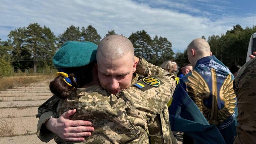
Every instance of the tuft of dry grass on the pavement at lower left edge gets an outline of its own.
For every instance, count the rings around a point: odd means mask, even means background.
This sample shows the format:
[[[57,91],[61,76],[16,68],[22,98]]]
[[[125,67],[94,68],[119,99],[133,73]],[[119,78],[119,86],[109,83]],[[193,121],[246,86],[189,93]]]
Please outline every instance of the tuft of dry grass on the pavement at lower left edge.
[[[0,137],[8,137],[14,135],[15,123],[13,120],[0,119]]]

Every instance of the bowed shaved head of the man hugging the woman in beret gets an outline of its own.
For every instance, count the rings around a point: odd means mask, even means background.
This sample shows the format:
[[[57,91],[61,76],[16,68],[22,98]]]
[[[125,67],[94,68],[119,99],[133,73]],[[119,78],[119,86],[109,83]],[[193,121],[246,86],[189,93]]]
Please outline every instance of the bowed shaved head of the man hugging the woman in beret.
[[[131,41],[122,35],[109,35],[97,49],[97,69],[101,86],[116,94],[131,86],[137,61]]]

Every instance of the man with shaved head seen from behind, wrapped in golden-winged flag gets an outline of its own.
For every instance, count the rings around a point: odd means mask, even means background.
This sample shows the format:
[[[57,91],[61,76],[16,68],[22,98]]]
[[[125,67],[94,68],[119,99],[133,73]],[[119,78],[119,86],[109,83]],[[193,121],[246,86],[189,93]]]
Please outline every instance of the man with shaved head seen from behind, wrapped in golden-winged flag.
[[[237,99],[232,87],[234,76],[212,55],[209,43],[202,38],[194,39],[189,44],[188,60],[193,71],[180,79],[182,89],[209,124],[217,126],[226,144],[233,143],[237,115]],[[186,143],[186,138],[183,140]]]

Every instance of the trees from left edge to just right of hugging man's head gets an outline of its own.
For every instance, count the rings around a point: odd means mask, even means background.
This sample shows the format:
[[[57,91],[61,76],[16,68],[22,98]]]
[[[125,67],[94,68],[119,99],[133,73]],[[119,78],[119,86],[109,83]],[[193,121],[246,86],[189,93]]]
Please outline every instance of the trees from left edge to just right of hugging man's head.
[[[105,36],[110,34],[115,34],[115,31],[110,30]],[[7,36],[7,41],[0,39],[1,61],[15,71],[33,69],[34,73],[45,68],[54,68],[52,57],[65,42],[90,41],[99,44],[102,39],[92,25],[86,28],[71,25],[64,33],[55,36],[49,27],[37,23],[12,30]],[[158,65],[164,60],[173,59],[172,43],[165,37],[156,35],[152,39],[142,30],[132,33],[129,39],[134,45],[135,54],[143,56],[153,64]]]

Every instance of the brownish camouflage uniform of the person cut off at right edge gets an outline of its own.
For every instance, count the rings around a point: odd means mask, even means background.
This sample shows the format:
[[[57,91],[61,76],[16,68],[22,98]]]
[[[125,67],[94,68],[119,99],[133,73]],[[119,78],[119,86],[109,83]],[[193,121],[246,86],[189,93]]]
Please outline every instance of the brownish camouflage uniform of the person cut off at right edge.
[[[256,58],[246,62],[233,82],[238,126],[234,144],[256,143]]]

